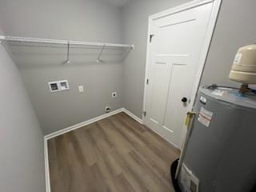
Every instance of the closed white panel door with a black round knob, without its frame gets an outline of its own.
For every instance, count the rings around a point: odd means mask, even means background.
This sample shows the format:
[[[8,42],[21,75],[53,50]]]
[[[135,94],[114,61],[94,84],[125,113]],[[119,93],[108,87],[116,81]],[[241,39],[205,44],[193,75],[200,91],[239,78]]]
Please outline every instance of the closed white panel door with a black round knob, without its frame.
[[[212,6],[207,3],[151,23],[145,123],[175,146],[181,144]]]

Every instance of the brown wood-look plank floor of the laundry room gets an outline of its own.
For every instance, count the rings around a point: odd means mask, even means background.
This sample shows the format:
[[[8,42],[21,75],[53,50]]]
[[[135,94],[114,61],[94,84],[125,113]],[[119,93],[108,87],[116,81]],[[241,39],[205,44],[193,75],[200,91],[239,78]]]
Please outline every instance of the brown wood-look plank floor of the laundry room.
[[[178,150],[124,113],[48,141],[51,192],[170,192]]]

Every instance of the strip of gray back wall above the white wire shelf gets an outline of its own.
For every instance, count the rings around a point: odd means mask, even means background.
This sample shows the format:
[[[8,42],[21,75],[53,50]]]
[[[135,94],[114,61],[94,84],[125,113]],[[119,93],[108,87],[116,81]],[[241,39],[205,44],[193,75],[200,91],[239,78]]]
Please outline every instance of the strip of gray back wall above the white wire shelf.
[[[2,0],[0,6],[5,34],[35,38],[120,42],[120,14],[105,0]]]

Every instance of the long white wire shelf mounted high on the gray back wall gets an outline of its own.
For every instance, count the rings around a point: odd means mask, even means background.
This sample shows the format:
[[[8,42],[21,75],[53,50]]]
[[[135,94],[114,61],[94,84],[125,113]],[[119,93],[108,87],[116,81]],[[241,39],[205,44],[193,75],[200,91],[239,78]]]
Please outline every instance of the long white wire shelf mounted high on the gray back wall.
[[[6,36],[0,35],[0,42],[38,42],[45,44],[62,44],[74,46],[114,46],[114,47],[122,47],[122,48],[130,48],[134,49],[134,45],[128,44],[116,44],[116,43],[106,43],[106,42],[81,42],[81,41],[70,41],[70,40],[59,40],[59,39],[50,39],[50,38],[26,38],[26,37],[17,37],[17,36]]]

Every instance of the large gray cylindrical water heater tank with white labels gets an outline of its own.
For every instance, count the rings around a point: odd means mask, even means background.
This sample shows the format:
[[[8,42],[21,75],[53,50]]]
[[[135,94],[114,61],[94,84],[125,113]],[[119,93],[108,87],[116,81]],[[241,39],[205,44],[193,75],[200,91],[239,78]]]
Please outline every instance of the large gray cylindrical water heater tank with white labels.
[[[247,192],[256,189],[256,94],[204,86],[183,166],[198,180],[183,191]]]

